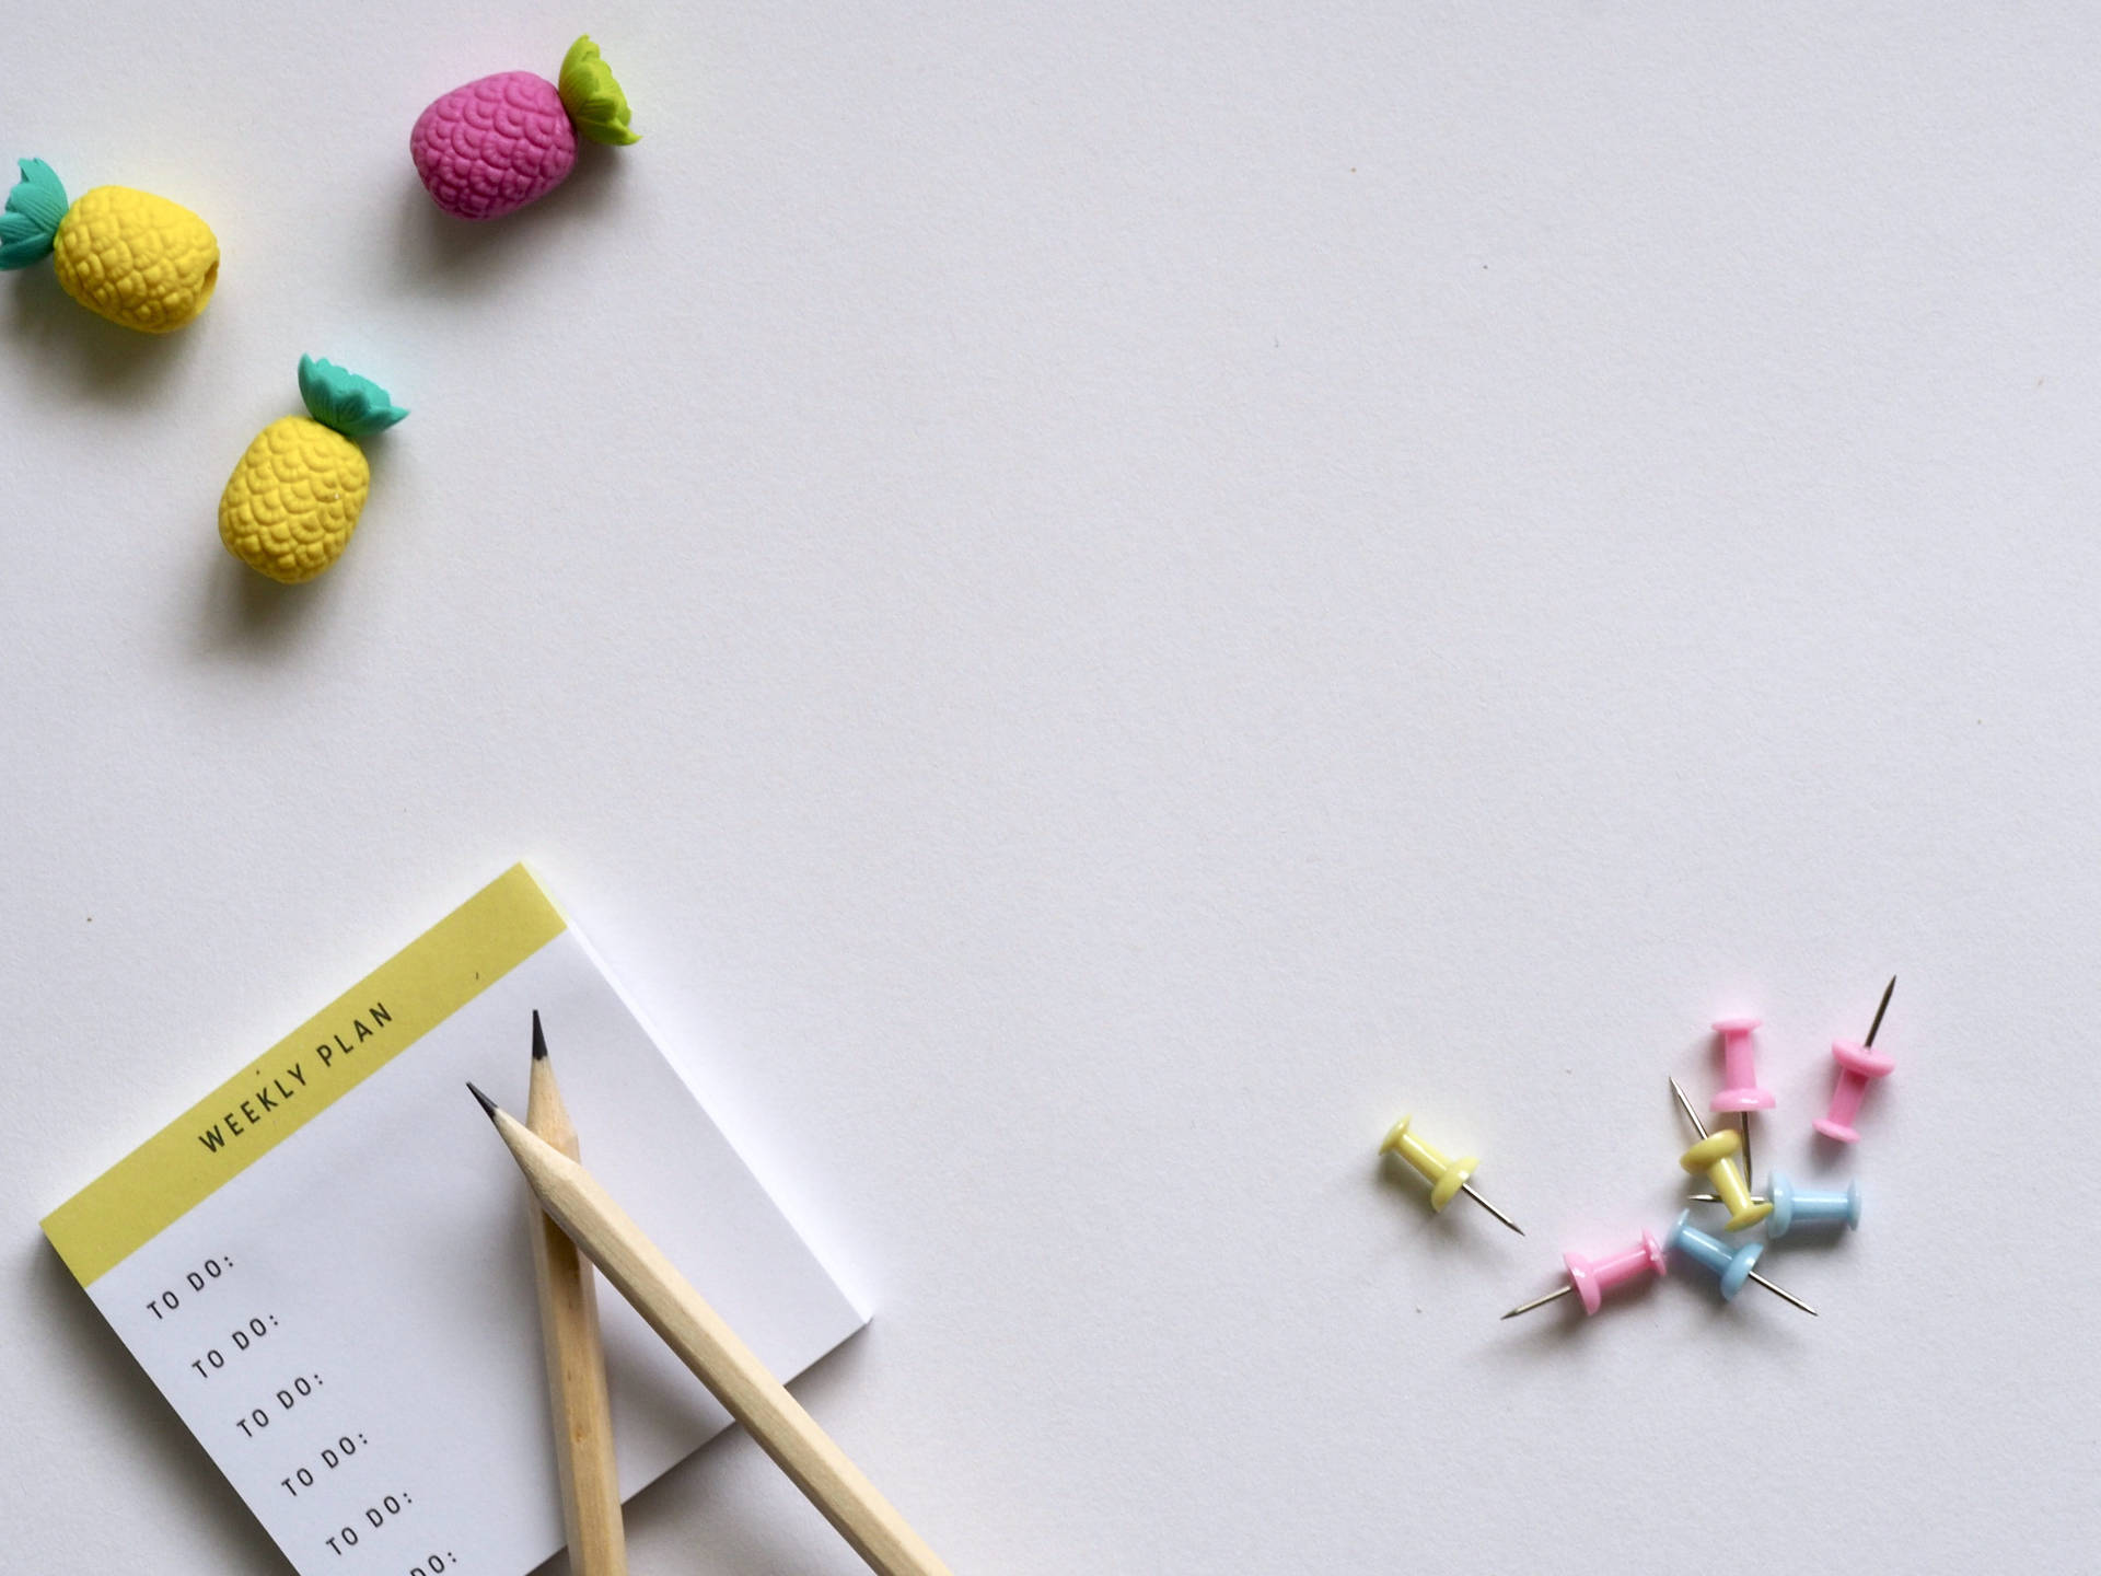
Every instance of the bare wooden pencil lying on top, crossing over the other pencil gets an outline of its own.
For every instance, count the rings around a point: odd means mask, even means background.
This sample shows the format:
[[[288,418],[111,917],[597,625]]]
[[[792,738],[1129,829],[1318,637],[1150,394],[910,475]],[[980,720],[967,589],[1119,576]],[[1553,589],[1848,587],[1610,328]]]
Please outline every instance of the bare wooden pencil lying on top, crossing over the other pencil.
[[[878,1576],[950,1576],[933,1549],[643,1236],[611,1194],[582,1164],[498,1110],[479,1088],[469,1088],[511,1147],[511,1158],[525,1173],[540,1206],[773,1456],[868,1568]]]

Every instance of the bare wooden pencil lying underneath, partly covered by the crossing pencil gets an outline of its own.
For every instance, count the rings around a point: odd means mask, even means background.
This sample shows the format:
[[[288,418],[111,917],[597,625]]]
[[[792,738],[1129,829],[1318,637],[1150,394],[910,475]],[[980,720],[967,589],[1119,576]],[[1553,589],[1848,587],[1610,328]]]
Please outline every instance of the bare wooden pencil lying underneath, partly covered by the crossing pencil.
[[[532,1015],[532,1091],[525,1126],[548,1147],[578,1160],[576,1124],[546,1059],[540,1013]],[[532,1208],[532,1267],[540,1286],[540,1339],[546,1393],[555,1414],[561,1467],[561,1523],[569,1534],[571,1576],[626,1576],[628,1540],[620,1519],[620,1471],[613,1465],[613,1412],[605,1397],[605,1347],[599,1343],[599,1292],[590,1265],[569,1236]]]

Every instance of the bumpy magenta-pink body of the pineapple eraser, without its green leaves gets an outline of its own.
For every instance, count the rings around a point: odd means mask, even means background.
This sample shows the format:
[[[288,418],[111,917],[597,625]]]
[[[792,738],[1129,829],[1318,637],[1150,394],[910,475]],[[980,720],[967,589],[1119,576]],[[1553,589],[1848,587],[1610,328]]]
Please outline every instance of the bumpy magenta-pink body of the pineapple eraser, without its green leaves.
[[[576,164],[576,128],[553,82],[498,71],[424,109],[408,147],[439,208],[498,219],[561,185]]]

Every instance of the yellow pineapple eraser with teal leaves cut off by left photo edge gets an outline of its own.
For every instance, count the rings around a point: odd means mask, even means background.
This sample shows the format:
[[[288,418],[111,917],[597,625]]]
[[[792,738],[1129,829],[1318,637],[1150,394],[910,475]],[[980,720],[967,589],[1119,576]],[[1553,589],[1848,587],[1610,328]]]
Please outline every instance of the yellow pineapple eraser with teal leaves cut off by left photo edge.
[[[219,240],[189,208],[130,187],[95,187],[67,204],[44,160],[19,164],[0,212],[0,269],[50,256],[65,294],[143,334],[204,311],[219,284]]]

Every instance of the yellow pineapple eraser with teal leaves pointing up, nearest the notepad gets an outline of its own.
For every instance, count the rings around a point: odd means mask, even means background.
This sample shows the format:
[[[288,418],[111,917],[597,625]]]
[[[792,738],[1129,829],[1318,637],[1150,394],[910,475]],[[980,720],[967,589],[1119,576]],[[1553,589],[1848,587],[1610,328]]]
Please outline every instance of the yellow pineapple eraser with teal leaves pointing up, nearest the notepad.
[[[372,469],[359,437],[408,416],[387,391],[332,361],[298,357],[307,416],[273,420],[219,494],[219,540],[256,574],[288,586],[342,557],[357,530]]]

